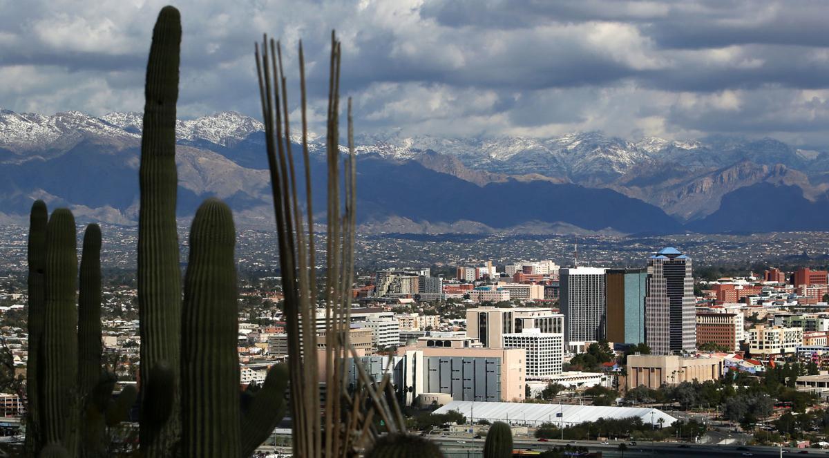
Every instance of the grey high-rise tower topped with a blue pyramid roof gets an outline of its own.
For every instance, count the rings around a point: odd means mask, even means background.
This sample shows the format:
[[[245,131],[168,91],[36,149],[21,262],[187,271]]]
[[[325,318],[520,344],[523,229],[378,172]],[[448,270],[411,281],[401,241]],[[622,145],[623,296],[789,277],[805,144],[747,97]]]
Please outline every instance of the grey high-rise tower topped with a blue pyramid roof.
[[[647,259],[645,334],[653,354],[692,352],[696,313],[691,258],[662,248]]]

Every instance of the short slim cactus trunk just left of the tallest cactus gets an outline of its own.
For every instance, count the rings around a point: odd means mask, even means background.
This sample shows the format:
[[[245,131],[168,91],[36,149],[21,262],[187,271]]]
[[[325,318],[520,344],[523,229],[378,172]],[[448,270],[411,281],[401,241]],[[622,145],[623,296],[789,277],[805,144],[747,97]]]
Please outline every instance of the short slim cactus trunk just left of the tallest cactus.
[[[97,224],[90,224],[84,232],[78,294],[78,387],[81,396],[88,396],[101,377],[100,252],[101,229]]]

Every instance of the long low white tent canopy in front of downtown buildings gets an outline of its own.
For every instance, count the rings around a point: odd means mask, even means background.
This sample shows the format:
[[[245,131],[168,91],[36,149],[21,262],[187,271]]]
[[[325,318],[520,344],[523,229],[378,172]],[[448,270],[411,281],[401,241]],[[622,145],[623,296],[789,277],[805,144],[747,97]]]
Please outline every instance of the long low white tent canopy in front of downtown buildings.
[[[542,423],[573,426],[599,418],[642,418],[645,424],[671,426],[676,418],[651,407],[573,406],[569,404],[531,404],[523,402],[453,401],[434,413],[458,411],[469,421],[505,421],[511,425],[541,426]]]

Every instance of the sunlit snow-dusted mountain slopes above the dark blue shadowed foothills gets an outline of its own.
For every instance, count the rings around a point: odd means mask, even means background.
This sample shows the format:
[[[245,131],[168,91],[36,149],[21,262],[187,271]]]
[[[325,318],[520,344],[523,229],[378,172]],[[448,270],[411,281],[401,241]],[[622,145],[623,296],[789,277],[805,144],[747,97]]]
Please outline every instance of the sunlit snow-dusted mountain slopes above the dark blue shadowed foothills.
[[[134,112],[95,117],[76,111],[36,115],[0,110],[0,172],[8,168],[12,173],[12,168],[32,161],[25,166],[26,173],[35,173],[39,161],[61,163],[64,169],[80,161],[92,168],[103,167],[100,163],[124,168],[122,178],[128,179],[138,167],[141,128],[142,115]],[[196,197],[212,190],[249,206],[266,199],[267,177],[261,173],[267,167],[263,129],[259,120],[235,112],[179,120],[177,139],[182,153],[177,160],[182,189],[192,194],[188,198],[197,202]],[[293,132],[292,143],[299,142]],[[324,151],[324,138],[312,134],[309,149],[313,153]],[[347,151],[343,145],[340,149]],[[361,158],[404,168],[416,164],[479,188],[511,181],[604,188],[659,207],[681,222],[704,218],[716,212],[730,193],[763,183],[793,188],[805,202],[823,202],[829,189],[829,153],[793,149],[774,139],[631,140],[600,132],[548,138],[453,139],[411,137],[392,130],[358,134],[356,153]],[[60,181],[59,172],[56,170],[50,179]],[[19,178],[21,172],[15,173],[12,178]],[[36,181],[36,174],[33,176]],[[35,195],[49,195],[75,202],[61,195],[64,191],[26,189],[27,183],[9,185],[7,192],[11,194],[6,196],[22,202]],[[759,189],[768,192],[768,188]],[[133,197],[124,194],[121,198],[125,201]],[[95,202],[83,205],[99,207]],[[122,216],[129,217],[126,213]]]

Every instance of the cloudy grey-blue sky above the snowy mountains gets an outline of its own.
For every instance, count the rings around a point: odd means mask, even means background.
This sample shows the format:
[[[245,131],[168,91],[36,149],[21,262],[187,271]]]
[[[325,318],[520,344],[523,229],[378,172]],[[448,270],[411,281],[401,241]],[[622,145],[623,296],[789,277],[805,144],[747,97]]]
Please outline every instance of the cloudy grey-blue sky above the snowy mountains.
[[[174,3],[182,118],[259,118],[253,43],[268,32],[283,41],[294,83],[303,39],[321,119],[335,28],[362,132],[735,134],[829,149],[829,2]],[[163,4],[0,0],[0,108],[142,110]]]

